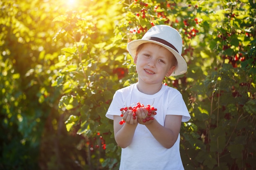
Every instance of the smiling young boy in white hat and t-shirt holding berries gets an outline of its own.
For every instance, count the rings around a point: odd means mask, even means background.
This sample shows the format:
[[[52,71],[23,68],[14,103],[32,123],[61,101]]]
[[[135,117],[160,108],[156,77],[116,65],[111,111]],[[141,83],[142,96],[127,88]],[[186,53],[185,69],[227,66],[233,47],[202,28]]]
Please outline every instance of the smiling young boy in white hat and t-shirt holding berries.
[[[115,140],[122,148],[119,170],[184,170],[180,126],[191,117],[181,93],[162,84],[165,76],[186,73],[182,38],[172,27],[157,25],[127,48],[136,64],[138,82],[116,91],[106,113],[114,120]],[[145,107],[137,108],[136,116],[130,109],[120,111],[138,102],[154,106],[157,114],[144,121]],[[125,123],[121,125],[122,119]]]

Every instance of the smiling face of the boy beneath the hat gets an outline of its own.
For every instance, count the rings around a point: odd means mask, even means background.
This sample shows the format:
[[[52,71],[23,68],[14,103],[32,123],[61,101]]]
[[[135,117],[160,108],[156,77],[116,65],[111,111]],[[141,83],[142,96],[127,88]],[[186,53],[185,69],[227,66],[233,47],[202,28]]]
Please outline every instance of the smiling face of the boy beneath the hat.
[[[175,69],[173,57],[173,53],[162,46],[143,44],[134,58],[139,79],[147,83],[162,84],[164,77],[169,77]]]

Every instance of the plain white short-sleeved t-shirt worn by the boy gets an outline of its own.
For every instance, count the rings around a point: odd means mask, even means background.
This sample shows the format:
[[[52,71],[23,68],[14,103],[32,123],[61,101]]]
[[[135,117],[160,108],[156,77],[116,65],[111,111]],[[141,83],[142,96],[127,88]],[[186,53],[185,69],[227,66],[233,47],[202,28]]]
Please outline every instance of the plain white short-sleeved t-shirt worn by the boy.
[[[155,119],[164,126],[166,115],[182,115],[182,121],[191,118],[182,95],[175,88],[162,86],[154,95],[141,93],[137,84],[116,91],[106,117],[121,115],[120,108],[135,106],[137,102],[157,108]],[[122,148],[119,170],[184,170],[180,157],[180,135],[172,148],[164,148],[146,126],[138,124],[132,143]]]

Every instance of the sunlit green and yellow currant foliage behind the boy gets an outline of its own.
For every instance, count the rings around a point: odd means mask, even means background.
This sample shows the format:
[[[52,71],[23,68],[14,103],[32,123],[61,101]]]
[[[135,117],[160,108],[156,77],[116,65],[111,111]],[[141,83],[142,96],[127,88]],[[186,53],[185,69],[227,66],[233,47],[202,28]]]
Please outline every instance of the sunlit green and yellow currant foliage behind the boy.
[[[183,38],[185,170],[256,168],[256,2],[1,0],[0,169],[117,170],[105,117],[137,81],[126,44],[167,24]]]

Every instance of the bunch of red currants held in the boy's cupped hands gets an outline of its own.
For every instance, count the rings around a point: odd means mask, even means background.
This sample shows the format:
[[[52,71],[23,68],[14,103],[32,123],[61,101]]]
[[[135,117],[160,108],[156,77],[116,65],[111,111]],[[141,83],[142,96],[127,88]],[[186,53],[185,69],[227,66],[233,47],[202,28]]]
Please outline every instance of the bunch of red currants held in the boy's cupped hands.
[[[137,119],[137,117],[136,117],[136,111],[137,111],[137,109],[138,108],[143,108],[144,107],[144,104],[141,104],[140,102],[138,102],[137,103],[137,105],[136,106],[134,106],[134,107],[124,107],[124,108],[121,108],[120,109],[120,111],[127,111],[127,110],[132,110],[132,118],[133,119]],[[147,105],[147,106],[145,106],[145,108],[147,109],[147,111],[148,111],[148,113],[147,113],[147,115],[144,117],[144,119],[142,120],[144,123],[146,122],[146,121],[149,121],[149,120],[153,120],[154,119],[154,117],[151,117],[151,115],[152,114],[154,114],[154,115],[156,115],[157,113],[156,113],[156,111],[157,111],[157,108],[154,108],[153,106],[150,106],[149,104]],[[124,115],[123,114],[121,114],[120,115],[121,117],[123,117]],[[125,121],[122,119],[121,121],[119,121],[119,124],[120,125],[122,125],[122,124],[124,124],[125,123]]]

